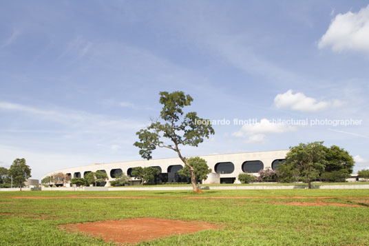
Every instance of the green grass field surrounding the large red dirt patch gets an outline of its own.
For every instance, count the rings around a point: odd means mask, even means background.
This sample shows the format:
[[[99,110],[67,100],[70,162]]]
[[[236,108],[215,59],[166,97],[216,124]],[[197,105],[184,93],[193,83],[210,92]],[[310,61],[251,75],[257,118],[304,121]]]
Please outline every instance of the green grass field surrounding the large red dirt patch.
[[[26,199],[13,196],[81,198]],[[230,198],[186,198],[188,196]],[[292,202],[315,203],[317,200],[359,207],[288,205]],[[114,245],[81,233],[65,232],[58,226],[136,217],[222,225],[218,230],[170,236],[139,245],[369,245],[368,189],[208,190],[204,194],[190,191],[1,192],[0,245]]]

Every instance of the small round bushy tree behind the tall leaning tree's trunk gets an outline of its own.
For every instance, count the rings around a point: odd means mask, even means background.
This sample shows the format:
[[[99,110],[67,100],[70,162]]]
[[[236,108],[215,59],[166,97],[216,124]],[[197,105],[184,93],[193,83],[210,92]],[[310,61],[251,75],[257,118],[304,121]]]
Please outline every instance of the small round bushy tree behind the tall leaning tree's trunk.
[[[211,168],[207,165],[207,161],[200,157],[187,158],[187,162],[193,170],[195,170],[195,181],[198,183],[200,180],[207,179],[207,175],[211,173]],[[192,173],[188,166],[184,166],[183,169],[178,170],[180,176],[191,178]]]

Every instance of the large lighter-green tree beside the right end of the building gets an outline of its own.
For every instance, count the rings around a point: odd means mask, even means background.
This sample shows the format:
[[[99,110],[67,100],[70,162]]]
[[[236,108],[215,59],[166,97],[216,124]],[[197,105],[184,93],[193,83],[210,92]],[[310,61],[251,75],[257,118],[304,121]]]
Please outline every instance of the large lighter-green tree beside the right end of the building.
[[[322,141],[300,143],[295,147],[290,147],[286,161],[280,167],[286,166],[285,169],[291,170],[291,174],[295,172],[294,174],[308,183],[308,188],[311,189],[311,182],[318,178],[326,167],[325,156],[326,151]]]

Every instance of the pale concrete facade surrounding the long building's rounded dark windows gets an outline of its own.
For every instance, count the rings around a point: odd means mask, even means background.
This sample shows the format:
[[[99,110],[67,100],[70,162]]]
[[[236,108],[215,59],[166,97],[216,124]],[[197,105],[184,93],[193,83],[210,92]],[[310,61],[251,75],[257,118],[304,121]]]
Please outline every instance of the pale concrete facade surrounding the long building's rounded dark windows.
[[[272,168],[272,163],[275,160],[284,160],[286,158],[286,154],[288,153],[288,150],[275,150],[275,151],[265,151],[265,152],[246,152],[246,153],[237,153],[237,154],[213,154],[213,155],[207,155],[207,156],[200,156],[201,158],[204,158],[207,161],[207,164],[211,168],[213,173],[218,173],[220,182],[222,181],[231,181],[231,179],[234,178],[235,183],[239,183],[238,181],[238,175],[241,173],[244,173],[242,170],[242,166],[244,166],[244,169],[251,167],[251,165],[254,165],[253,169],[257,171],[260,169],[266,169],[266,168]],[[259,165],[255,166],[255,162]],[[261,162],[261,163],[260,163]],[[219,165],[219,163],[222,163]],[[224,164],[225,163],[225,164]],[[234,166],[234,169],[232,172],[227,173],[220,170],[220,166],[223,165],[229,170],[232,170],[232,163]],[[217,165],[218,164],[218,165]],[[133,169],[134,167],[160,167],[161,172],[163,174],[168,173],[168,168],[173,165],[181,165],[183,166],[182,161],[180,161],[180,158],[162,158],[162,159],[156,159],[156,160],[141,160],[141,161],[125,161],[125,162],[119,162],[119,163],[105,163],[105,164],[92,164],[92,165],[85,165],[82,167],[70,167],[65,168],[62,170],[56,170],[54,172],[49,172],[48,174],[45,174],[45,176],[52,176],[53,174],[62,172],[63,174],[71,174],[72,178],[74,178],[76,175],[80,173],[81,178],[83,178],[85,172],[96,172],[98,170],[105,170],[107,173],[107,176],[109,177],[108,181],[113,181],[114,177],[112,177],[112,170],[122,170],[125,174],[129,173],[129,170]],[[261,166],[262,165],[262,166]],[[255,169],[256,168],[256,169]],[[253,172],[254,174],[257,173],[257,171]],[[45,178],[43,176],[42,178]],[[114,176],[114,175],[113,175]],[[207,181],[204,181],[204,183],[218,183],[215,176],[218,175],[209,175],[209,178]],[[41,178],[41,179],[42,179]],[[231,178],[231,179],[226,179]],[[169,182],[171,182],[169,180]],[[107,186],[109,185],[109,182],[107,183]]]

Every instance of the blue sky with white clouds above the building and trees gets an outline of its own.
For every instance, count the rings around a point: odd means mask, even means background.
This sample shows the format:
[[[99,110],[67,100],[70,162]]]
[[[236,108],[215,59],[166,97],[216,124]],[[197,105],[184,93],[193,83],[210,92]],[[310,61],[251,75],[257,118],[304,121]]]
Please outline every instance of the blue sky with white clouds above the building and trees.
[[[357,172],[368,68],[369,1],[1,1],[0,166],[140,160],[136,132],[180,90],[215,123],[184,156],[324,141]]]

